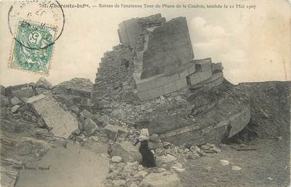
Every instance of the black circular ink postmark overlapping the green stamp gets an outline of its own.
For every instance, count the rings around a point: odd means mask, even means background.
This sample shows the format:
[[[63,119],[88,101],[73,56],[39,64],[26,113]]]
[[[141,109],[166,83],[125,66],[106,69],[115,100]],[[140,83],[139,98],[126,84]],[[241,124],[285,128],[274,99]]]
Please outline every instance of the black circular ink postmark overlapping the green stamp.
[[[8,11],[8,29],[27,49],[52,46],[61,37],[64,25],[64,11],[58,1],[14,1]]]

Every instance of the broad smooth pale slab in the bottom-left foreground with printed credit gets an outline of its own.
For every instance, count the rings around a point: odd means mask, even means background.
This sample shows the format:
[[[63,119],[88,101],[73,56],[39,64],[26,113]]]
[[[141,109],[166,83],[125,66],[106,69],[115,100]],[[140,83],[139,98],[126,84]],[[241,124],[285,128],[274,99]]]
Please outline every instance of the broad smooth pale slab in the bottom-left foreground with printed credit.
[[[102,186],[109,171],[109,160],[67,143],[66,148],[49,150],[40,161],[26,166],[35,169],[21,169],[16,187]]]

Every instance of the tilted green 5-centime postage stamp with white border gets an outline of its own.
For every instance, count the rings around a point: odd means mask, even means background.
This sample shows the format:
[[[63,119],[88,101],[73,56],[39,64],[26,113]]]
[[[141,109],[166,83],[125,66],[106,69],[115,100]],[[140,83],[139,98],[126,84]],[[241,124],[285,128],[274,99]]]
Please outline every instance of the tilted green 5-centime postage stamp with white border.
[[[48,74],[57,28],[20,20],[10,66],[22,71]]]

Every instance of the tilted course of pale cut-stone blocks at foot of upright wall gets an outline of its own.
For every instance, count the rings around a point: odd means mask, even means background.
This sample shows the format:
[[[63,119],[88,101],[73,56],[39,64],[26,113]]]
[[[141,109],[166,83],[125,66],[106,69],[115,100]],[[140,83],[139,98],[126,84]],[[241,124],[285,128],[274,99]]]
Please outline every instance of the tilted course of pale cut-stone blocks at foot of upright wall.
[[[211,86],[222,83],[222,64],[213,64],[211,59],[196,59],[184,64],[170,73],[163,73],[143,80],[136,80],[136,89],[141,101],[154,99],[161,95],[176,92],[191,85],[207,84]]]

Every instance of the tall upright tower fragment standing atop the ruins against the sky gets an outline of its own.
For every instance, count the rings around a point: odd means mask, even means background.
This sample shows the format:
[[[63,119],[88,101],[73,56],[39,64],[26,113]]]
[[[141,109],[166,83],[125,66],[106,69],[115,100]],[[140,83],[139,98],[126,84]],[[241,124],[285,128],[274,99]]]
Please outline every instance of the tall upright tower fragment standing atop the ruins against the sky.
[[[132,18],[119,24],[118,33],[121,45],[101,59],[93,101],[130,96],[143,102],[188,86],[210,88],[223,81],[221,63],[194,59],[184,17],[167,22],[161,14]],[[124,90],[127,96],[120,94]]]

